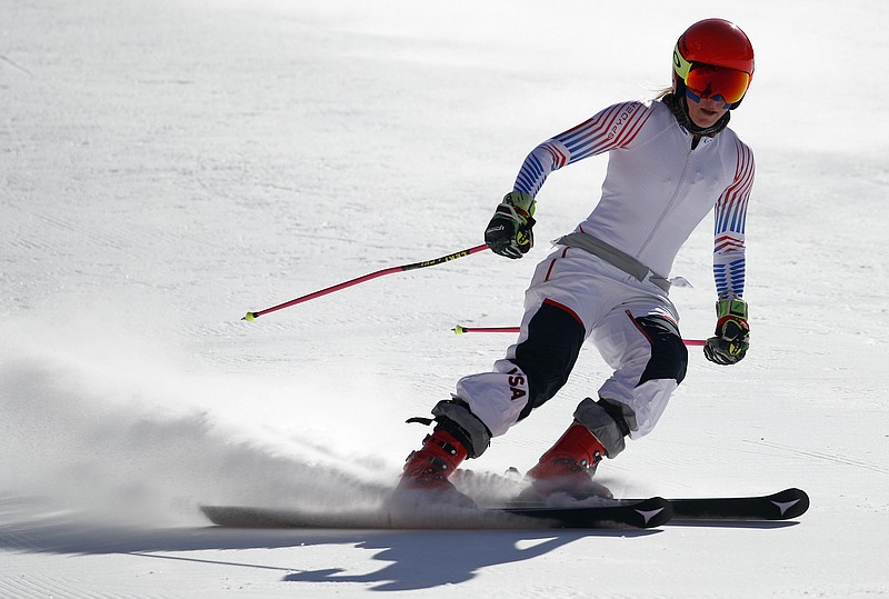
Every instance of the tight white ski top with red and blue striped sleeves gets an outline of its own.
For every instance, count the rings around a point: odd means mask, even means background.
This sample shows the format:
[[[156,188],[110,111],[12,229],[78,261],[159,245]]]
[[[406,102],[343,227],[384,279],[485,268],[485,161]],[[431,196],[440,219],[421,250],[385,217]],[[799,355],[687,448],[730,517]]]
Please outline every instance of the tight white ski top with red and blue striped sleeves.
[[[661,101],[615,104],[535,148],[515,189],[536,197],[550,172],[610,152],[601,199],[576,231],[668,277],[679,248],[716,208],[717,293],[741,297],[753,153],[728,128],[695,149],[692,138]]]

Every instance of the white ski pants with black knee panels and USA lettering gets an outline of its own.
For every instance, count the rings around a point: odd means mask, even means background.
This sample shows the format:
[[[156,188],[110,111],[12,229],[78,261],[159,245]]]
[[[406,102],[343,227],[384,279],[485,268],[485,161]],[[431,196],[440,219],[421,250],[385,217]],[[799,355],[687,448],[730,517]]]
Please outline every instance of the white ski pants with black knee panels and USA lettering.
[[[551,312],[555,318],[545,320],[543,312]],[[492,372],[460,379],[457,396],[493,437],[501,436],[558,391],[573,367],[579,346],[589,339],[613,369],[599,389],[599,397],[620,409],[630,438],[642,437],[653,429],[670,393],[685,377],[687,352],[678,321],[667,292],[653,282],[639,281],[582,249],[557,247],[531,279],[516,343],[507,350],[505,359],[493,365]],[[555,325],[560,322],[567,325]],[[545,367],[553,370],[561,365],[559,368],[565,372],[555,376],[546,390],[541,390],[542,383],[535,390],[533,378],[548,378],[549,373],[541,371],[529,381],[530,370],[541,362],[548,363],[551,355],[572,342],[562,339],[572,335],[557,338],[559,331],[570,332],[571,327],[577,331],[572,333],[577,337],[577,348],[568,350],[567,357],[557,359],[553,366]],[[533,347],[536,353],[522,362],[526,347]],[[520,368],[522,363],[527,366]]]

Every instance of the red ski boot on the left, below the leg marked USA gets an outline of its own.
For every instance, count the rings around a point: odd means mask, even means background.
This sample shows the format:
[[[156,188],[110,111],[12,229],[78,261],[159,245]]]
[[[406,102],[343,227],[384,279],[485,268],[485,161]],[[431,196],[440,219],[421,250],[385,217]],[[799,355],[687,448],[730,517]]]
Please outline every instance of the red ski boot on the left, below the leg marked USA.
[[[467,449],[449,432],[437,429],[423,439],[423,447],[408,456],[397,495],[421,491],[423,500],[476,507],[475,502],[448,480],[467,458]],[[412,493],[411,493],[412,495]]]

